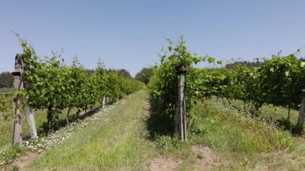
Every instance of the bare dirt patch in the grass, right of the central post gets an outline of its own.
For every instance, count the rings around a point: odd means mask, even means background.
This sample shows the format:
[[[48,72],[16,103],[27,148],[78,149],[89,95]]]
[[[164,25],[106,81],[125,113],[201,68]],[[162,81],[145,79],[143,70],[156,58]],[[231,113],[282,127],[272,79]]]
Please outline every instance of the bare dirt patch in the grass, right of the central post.
[[[217,166],[217,154],[208,146],[193,145],[192,151],[197,157],[197,161],[192,164],[195,170],[207,170]]]

